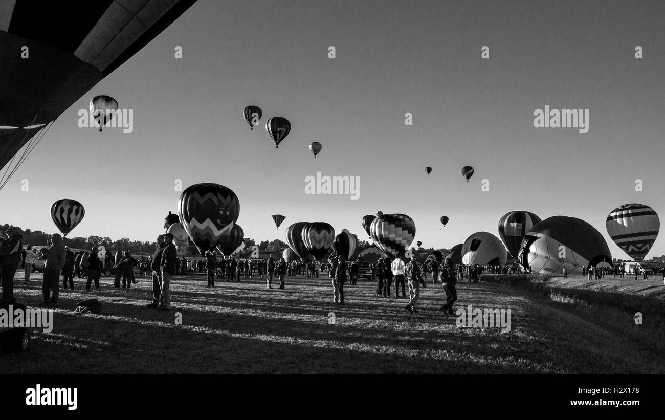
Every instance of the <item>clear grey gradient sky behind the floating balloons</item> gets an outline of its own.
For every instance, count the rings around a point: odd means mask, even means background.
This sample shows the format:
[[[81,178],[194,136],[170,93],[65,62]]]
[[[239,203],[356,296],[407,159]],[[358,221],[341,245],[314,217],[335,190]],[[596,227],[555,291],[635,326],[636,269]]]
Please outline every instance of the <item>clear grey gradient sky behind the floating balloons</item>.
[[[59,117],[0,191],[0,222],[53,232],[51,203],[72,198],[86,215],[70,236],[154,241],[180,179],[235,191],[257,241],[297,221],[367,240],[360,219],[382,211],[412,217],[414,242],[450,248],[526,210],[584,219],[625,258],[607,214],[634,202],[665,214],[664,18],[660,1],[199,0]],[[131,134],[78,128],[99,94],[133,110]],[[263,110],[254,130],[250,104]],[[534,128],[546,105],[588,109],[589,132]],[[271,116],[292,124],[279,149]],[[317,171],[360,177],[359,199],[306,194]]]

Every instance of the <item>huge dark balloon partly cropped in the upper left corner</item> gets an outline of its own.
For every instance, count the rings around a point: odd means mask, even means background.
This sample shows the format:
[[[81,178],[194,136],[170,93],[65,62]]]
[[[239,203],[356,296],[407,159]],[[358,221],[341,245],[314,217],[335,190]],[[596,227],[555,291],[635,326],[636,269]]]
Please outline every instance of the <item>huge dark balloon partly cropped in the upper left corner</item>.
[[[26,144],[27,156],[58,116],[194,1],[136,7],[106,1],[90,3],[85,13],[76,13],[74,3],[5,3],[0,13],[0,126],[5,127],[0,129],[0,169]],[[66,30],[47,29],[50,25]],[[23,47],[29,48],[29,58],[17,54]],[[24,160],[15,159],[7,173]]]

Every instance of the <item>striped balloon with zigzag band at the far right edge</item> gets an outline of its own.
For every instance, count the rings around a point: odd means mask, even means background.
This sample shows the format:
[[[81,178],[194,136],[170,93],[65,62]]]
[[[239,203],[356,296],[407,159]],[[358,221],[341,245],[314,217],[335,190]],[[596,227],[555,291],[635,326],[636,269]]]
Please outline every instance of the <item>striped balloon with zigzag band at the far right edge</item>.
[[[648,205],[630,203],[612,210],[605,227],[612,241],[630,258],[644,261],[658,237],[660,219]]]

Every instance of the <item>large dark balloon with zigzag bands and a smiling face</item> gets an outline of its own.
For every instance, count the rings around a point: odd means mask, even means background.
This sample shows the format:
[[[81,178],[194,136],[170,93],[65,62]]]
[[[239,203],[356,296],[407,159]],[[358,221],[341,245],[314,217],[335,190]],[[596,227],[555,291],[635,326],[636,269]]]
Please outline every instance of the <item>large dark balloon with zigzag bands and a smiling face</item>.
[[[178,211],[185,231],[204,255],[233,228],[240,215],[240,201],[224,185],[199,183],[182,191]]]

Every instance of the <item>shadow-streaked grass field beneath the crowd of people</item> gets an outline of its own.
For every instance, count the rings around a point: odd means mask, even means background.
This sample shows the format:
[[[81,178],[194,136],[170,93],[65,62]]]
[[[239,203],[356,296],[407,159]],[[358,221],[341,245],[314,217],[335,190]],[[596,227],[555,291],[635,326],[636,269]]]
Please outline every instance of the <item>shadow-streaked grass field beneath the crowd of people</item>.
[[[41,302],[41,274],[19,302]],[[19,280],[21,279],[21,280]],[[102,292],[60,292],[52,333],[35,334],[24,354],[0,356],[2,373],[664,373],[662,323],[635,325],[633,314],[506,284],[458,284],[458,305],[511,308],[512,330],[458,328],[438,308],[440,284],[421,289],[420,312],[404,298],[374,296],[376,284],[346,286],[331,302],[327,278],[287,278],[267,289],[257,278],[176,277],[173,312],[144,307],[152,280],[125,292],[102,278]],[[431,283],[431,280],[430,280]],[[274,287],[274,286],[273,286]],[[408,293],[408,290],[407,290]],[[72,312],[95,297],[102,314]],[[182,325],[174,323],[182,314]],[[330,324],[334,312],[335,324]],[[648,315],[645,314],[645,320]]]

